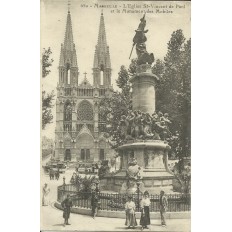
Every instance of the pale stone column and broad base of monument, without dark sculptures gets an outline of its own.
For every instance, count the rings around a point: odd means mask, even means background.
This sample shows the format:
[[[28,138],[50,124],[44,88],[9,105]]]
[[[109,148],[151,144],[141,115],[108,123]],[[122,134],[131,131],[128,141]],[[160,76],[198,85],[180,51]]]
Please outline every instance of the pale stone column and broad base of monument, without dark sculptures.
[[[137,66],[131,79],[133,111],[152,115],[155,112],[155,83],[158,77],[150,64]],[[131,140],[118,148],[121,169],[114,176],[103,178],[102,188],[119,193],[132,194],[139,187],[141,192],[159,194],[160,190],[172,192],[173,174],[168,169],[170,146],[162,140]],[[136,164],[133,165],[134,160]],[[140,179],[141,178],[141,179]]]

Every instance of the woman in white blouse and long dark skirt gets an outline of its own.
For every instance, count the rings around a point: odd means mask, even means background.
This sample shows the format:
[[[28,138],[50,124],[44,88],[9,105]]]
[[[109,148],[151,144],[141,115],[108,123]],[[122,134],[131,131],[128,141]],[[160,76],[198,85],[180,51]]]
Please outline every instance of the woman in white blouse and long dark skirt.
[[[151,224],[150,221],[150,209],[149,206],[151,204],[149,193],[145,191],[143,194],[143,199],[141,200],[141,218],[140,218],[140,225],[142,226],[142,230],[149,229],[147,226]]]

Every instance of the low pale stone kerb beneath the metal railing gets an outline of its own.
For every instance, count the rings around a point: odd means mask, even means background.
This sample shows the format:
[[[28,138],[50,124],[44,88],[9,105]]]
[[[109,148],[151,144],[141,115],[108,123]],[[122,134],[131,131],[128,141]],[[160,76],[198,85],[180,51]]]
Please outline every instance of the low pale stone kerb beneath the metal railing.
[[[60,210],[62,210],[61,204],[59,202],[55,202],[54,206]],[[75,207],[71,208],[72,213],[83,214],[83,215],[91,215],[91,209]],[[108,210],[99,210],[98,217],[110,217],[110,218],[125,218],[124,211],[108,211]],[[141,213],[136,212],[136,218],[140,218]],[[150,212],[151,219],[160,219],[159,212]],[[191,212],[167,212],[167,219],[190,219]]]

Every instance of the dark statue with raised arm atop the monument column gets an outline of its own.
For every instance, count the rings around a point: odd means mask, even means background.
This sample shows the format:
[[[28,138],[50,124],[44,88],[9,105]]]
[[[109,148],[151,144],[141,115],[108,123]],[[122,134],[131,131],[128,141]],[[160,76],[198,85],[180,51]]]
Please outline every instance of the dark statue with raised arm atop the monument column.
[[[147,37],[145,33],[147,33],[148,30],[145,30],[145,27],[146,27],[146,20],[144,14],[144,16],[140,19],[140,24],[138,26],[138,29],[135,30],[136,34],[133,38],[133,47],[131,50],[131,54],[132,54],[133,48],[136,45],[136,53],[138,56],[137,65],[152,64],[155,60],[153,53],[148,53],[146,49],[145,42],[147,41]]]

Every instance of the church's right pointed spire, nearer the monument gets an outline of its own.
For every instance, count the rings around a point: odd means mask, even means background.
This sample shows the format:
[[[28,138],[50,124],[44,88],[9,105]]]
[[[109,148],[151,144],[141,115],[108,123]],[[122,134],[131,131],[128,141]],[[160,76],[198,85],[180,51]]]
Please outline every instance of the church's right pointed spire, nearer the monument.
[[[103,72],[103,76],[101,75],[101,72]],[[101,78],[103,78],[103,81],[101,81]],[[100,17],[98,40],[94,53],[93,79],[94,86],[103,85],[104,87],[109,87],[111,85],[110,52],[106,40],[106,30],[103,13],[101,13]]]

